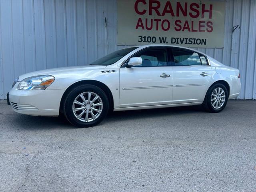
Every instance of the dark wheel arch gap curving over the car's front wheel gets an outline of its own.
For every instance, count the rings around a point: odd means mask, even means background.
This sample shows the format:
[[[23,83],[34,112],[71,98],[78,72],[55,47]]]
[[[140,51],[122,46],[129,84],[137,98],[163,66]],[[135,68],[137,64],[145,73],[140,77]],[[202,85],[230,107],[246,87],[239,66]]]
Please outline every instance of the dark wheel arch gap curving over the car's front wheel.
[[[100,81],[96,81],[96,80],[82,80],[82,81],[78,81],[75,82],[74,84],[70,85],[66,91],[64,92],[64,94],[62,95],[62,98],[60,100],[60,114],[63,113],[63,102],[64,102],[64,98],[66,98],[66,96],[68,95],[68,93],[70,92],[70,90],[72,90],[74,87],[77,87],[79,85],[84,85],[84,84],[88,84],[88,85],[94,85],[97,86],[99,88],[101,88],[107,95],[108,97],[108,101],[109,101],[109,112],[113,111],[114,109],[114,100],[113,100],[113,95],[112,92],[110,91],[110,89],[108,88],[108,86],[106,86],[106,84],[100,82]]]

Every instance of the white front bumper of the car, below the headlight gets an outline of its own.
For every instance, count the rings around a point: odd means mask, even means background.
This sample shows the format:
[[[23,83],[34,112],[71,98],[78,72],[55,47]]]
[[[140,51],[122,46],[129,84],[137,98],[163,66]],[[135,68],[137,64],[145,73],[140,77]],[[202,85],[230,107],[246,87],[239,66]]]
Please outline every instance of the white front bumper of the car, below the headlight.
[[[7,100],[15,112],[36,116],[58,116],[60,100],[65,89],[57,90],[10,90]]]

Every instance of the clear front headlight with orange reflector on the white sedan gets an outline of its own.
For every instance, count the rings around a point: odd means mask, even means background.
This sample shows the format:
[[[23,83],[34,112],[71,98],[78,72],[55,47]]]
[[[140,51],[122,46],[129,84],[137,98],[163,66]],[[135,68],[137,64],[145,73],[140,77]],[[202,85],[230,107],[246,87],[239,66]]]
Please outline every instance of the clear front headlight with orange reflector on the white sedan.
[[[18,84],[19,90],[44,90],[55,80],[54,76],[42,75],[29,77]]]

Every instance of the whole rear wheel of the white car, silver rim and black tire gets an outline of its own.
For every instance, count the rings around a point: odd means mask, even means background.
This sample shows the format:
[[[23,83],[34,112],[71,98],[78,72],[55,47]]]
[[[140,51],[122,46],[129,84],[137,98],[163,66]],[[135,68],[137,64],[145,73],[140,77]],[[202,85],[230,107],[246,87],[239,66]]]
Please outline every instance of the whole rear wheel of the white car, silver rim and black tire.
[[[206,93],[203,107],[213,113],[222,111],[228,102],[228,90],[223,84],[215,84]]]

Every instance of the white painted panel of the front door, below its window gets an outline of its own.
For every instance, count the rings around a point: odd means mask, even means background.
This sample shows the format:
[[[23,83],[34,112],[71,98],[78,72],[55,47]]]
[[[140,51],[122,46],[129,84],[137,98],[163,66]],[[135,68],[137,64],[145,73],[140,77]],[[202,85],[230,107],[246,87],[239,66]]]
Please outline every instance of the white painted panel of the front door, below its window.
[[[172,76],[172,66],[120,68],[120,107],[172,104]]]

